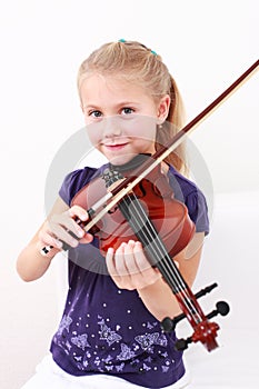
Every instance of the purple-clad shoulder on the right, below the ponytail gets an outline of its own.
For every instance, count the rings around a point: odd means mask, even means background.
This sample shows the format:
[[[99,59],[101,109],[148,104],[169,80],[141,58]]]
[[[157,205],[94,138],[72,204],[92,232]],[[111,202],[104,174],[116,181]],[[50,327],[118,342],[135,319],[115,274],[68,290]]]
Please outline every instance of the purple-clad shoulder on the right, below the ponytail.
[[[168,178],[175,198],[186,205],[191,220],[196,223],[197,232],[209,232],[209,218],[206,197],[199,187],[187,177],[169,167]]]

